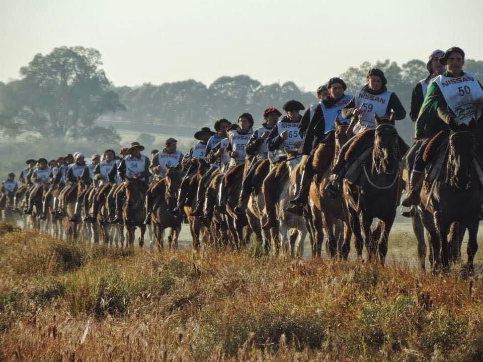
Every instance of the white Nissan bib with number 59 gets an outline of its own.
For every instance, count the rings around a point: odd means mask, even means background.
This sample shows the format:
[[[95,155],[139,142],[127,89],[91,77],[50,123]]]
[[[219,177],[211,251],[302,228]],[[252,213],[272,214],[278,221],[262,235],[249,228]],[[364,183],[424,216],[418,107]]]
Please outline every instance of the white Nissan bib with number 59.
[[[357,129],[354,128],[354,132],[356,130],[360,132],[364,129],[375,128],[374,113],[379,117],[386,114],[391,94],[392,92],[390,91],[380,95],[371,95],[364,91],[356,92],[354,96],[355,105],[356,108],[361,107],[361,114],[359,115],[359,127]]]

